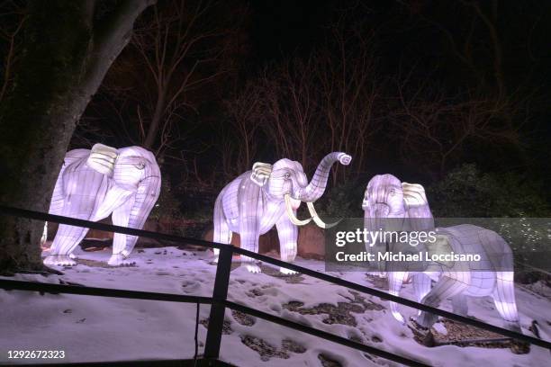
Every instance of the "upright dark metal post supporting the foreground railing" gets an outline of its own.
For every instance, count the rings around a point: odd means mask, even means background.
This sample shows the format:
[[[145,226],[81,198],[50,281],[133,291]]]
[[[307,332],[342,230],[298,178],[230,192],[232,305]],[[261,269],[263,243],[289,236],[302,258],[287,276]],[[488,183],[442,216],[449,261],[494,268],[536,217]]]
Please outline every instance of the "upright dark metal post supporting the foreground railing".
[[[210,360],[218,359],[220,354],[222,327],[224,325],[225,301],[228,297],[228,284],[230,282],[231,256],[233,246],[221,246],[214,278],[214,291],[212,292],[211,315],[207,330],[204,357]]]

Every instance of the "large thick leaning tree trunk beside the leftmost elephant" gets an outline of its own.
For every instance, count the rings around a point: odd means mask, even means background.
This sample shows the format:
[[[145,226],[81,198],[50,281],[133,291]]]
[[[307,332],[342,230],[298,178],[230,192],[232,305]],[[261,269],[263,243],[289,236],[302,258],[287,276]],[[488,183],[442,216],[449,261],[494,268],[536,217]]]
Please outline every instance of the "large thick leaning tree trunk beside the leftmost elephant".
[[[29,4],[14,90],[0,106],[2,204],[48,210],[78,119],[153,2],[122,1],[102,14],[94,1]],[[40,221],[0,216],[0,273],[42,268],[42,228]]]

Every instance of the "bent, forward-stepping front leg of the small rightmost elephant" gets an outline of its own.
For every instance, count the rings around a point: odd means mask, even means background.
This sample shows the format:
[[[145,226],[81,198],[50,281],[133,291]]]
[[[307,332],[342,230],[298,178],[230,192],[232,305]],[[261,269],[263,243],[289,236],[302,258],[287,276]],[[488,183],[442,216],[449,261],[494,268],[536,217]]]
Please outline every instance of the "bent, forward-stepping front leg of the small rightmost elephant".
[[[468,272],[451,272],[442,275],[440,280],[429,291],[429,293],[421,300],[421,303],[438,307],[442,300],[463,293],[470,284],[470,273]],[[438,315],[422,311],[417,318],[418,324],[421,327],[432,327],[438,320]]]

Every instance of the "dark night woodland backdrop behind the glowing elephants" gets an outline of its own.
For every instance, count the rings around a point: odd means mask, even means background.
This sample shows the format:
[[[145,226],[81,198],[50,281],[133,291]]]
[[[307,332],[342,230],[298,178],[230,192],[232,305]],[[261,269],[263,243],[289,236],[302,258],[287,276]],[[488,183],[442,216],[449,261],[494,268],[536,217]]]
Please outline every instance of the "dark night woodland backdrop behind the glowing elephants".
[[[0,8],[1,102],[25,3]],[[323,215],[361,215],[366,183],[391,173],[425,185],[439,216],[548,217],[550,16],[541,1],[159,0],[70,148],[155,152],[156,215],[210,219],[254,162],[311,176],[345,151]]]

